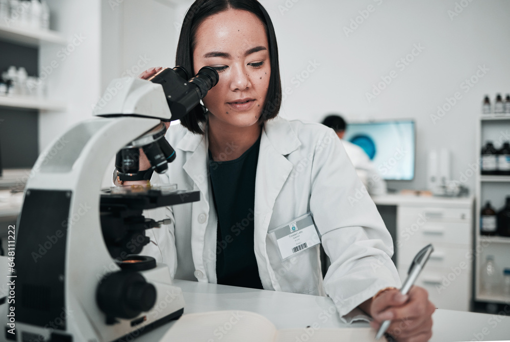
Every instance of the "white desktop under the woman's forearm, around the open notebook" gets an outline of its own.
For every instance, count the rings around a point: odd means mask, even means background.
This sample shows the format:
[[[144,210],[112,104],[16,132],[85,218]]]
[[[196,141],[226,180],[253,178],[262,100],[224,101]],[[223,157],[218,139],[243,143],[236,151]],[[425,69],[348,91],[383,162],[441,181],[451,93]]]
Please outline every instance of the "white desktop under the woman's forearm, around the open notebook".
[[[242,287],[175,280],[186,301],[185,313],[213,310],[247,310],[266,316],[277,329],[304,328],[319,324],[320,328],[367,327],[340,321],[333,312],[333,301],[326,297],[297,295],[287,292],[256,290]],[[494,316],[438,309],[433,315],[431,341],[471,341],[510,339],[510,305],[506,316]],[[499,322],[498,322],[499,321]],[[141,335],[136,341],[159,341],[173,323]],[[192,332],[190,332],[192,333]]]

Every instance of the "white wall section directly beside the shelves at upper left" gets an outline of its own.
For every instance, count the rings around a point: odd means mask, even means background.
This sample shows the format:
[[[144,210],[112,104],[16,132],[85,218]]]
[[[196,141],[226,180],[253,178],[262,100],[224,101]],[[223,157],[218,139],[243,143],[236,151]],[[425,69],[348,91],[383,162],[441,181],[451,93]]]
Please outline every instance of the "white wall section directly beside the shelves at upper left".
[[[47,70],[48,96],[67,103],[65,112],[39,114],[39,150],[70,126],[91,116],[99,96],[100,0],[49,0],[52,29],[67,46],[48,44],[39,52],[39,71]],[[42,74],[41,74],[42,75]]]

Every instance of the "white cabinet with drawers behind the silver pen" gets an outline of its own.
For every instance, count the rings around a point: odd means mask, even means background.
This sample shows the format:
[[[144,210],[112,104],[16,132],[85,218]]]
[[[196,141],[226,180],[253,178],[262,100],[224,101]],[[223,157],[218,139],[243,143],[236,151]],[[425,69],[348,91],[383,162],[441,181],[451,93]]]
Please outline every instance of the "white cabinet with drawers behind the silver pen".
[[[396,206],[393,240],[400,280],[416,253],[431,243],[434,251],[415,284],[428,291],[438,308],[471,310],[473,198],[388,195],[374,197],[374,202]]]

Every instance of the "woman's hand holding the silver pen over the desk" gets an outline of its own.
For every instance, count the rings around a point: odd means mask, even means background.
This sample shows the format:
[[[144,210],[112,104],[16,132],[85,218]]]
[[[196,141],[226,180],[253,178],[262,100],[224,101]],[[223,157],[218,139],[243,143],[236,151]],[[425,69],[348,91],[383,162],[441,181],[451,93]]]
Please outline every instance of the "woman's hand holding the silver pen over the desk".
[[[403,296],[397,289],[382,292],[370,305],[372,328],[378,330],[382,322],[390,320],[386,331],[399,342],[428,341],[432,336],[432,313],[436,306],[428,300],[428,292],[413,286]]]

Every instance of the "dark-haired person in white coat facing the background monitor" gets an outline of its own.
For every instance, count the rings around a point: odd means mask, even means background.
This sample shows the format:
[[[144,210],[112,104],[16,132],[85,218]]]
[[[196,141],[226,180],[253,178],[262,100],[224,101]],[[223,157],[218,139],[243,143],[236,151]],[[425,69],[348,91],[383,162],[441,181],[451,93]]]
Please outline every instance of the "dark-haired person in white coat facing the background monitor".
[[[352,165],[356,169],[356,174],[360,177],[371,195],[386,194],[386,182],[377,172],[374,163],[370,160],[367,153],[358,145],[344,139],[347,124],[345,120],[336,114],[326,116],[322,125],[332,128],[344,145],[345,152],[349,156]]]

